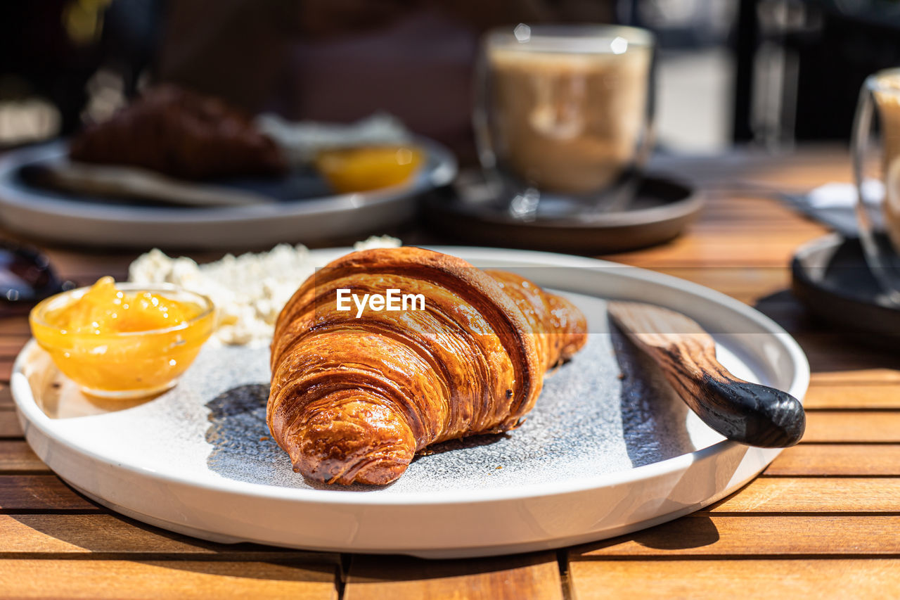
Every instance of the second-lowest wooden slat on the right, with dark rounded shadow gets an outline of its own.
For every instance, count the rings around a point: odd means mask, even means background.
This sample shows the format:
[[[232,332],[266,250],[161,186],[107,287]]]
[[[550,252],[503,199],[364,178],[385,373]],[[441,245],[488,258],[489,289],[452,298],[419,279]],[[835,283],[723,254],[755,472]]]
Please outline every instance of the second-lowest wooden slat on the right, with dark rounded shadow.
[[[692,514],[572,549],[570,559],[669,556],[900,555],[900,516]]]

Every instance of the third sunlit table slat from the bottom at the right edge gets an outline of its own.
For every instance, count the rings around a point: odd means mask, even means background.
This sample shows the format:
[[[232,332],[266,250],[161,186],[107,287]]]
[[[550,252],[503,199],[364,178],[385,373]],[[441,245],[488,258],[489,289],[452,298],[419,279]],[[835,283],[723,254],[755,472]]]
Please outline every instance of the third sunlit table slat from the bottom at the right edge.
[[[898,477],[759,477],[709,513],[900,513]]]

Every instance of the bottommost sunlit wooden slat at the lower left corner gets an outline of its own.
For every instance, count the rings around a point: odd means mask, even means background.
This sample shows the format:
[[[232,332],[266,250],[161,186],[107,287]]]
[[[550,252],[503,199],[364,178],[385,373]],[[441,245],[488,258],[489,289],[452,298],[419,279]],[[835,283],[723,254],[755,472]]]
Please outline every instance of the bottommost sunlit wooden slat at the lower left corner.
[[[338,597],[336,568],[213,560],[40,560],[0,563],[0,589],[20,598]]]

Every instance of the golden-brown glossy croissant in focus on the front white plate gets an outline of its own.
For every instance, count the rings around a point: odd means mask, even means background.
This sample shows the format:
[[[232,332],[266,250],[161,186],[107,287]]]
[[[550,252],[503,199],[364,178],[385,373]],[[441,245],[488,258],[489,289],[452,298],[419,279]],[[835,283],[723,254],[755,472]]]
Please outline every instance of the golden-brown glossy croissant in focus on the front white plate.
[[[392,288],[424,310],[338,310],[340,289]],[[384,485],[430,444],[516,428],[586,337],[574,305],[524,277],[418,248],[353,252],[279,315],[266,420],[303,477]]]

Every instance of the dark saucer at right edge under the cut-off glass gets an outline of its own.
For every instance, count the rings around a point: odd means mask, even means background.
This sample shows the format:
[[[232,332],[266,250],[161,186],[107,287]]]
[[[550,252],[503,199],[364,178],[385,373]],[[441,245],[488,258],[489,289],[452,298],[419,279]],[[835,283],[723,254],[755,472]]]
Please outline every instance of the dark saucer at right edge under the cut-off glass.
[[[842,332],[878,346],[900,342],[900,307],[887,301],[859,240],[831,234],[801,246],[791,276],[797,299]]]

